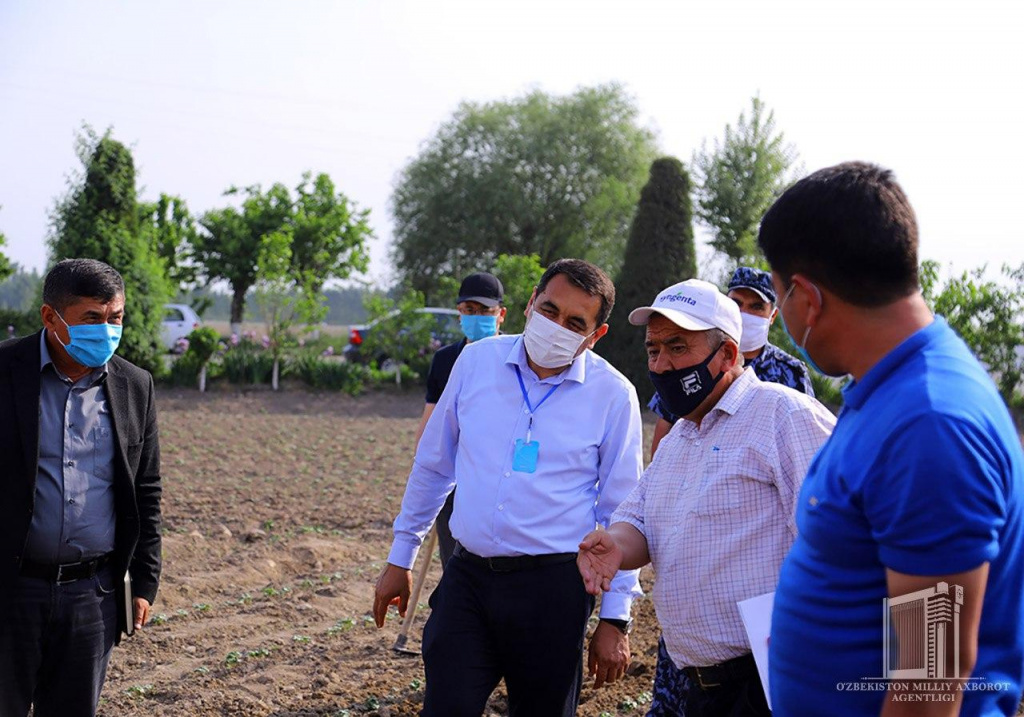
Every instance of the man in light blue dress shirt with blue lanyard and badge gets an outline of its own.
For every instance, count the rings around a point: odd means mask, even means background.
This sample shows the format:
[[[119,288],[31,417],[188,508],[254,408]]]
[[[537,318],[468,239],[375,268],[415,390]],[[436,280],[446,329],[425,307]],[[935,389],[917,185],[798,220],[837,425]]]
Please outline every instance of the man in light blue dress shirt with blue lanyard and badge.
[[[541,278],[521,336],[466,346],[424,430],[394,522],[374,617],[404,614],[411,567],[456,482],[458,541],[423,637],[423,714],[479,715],[504,678],[512,714],[573,715],[593,610],[574,558],[642,471],[633,385],[587,350],[607,333],[614,287],[598,267],[561,259]],[[466,358],[469,356],[469,358]],[[590,644],[595,686],[629,665],[637,572],[601,599]]]

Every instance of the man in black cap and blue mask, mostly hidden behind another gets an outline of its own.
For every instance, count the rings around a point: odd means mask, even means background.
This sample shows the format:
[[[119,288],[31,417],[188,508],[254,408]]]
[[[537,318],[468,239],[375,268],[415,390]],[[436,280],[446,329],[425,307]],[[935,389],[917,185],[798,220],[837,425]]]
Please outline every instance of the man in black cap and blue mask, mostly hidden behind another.
[[[462,349],[470,341],[478,341],[488,336],[498,335],[498,330],[501,328],[502,322],[505,321],[506,309],[502,305],[504,299],[505,288],[498,277],[493,273],[479,271],[469,275],[462,281],[462,286],[459,287],[459,298],[456,299],[456,308],[459,309],[459,324],[466,337],[437,349],[430,362],[430,372],[427,374],[427,403],[423,407],[420,427],[416,429],[417,444],[420,442],[420,436],[423,435],[423,429],[430,419],[430,414],[433,413],[441,393],[444,392],[444,386],[447,385],[449,377],[452,375],[452,368],[459,354],[462,353]],[[449,529],[449,519],[452,517],[454,506],[455,491],[449,495],[435,523],[442,568],[455,551],[455,539]]]

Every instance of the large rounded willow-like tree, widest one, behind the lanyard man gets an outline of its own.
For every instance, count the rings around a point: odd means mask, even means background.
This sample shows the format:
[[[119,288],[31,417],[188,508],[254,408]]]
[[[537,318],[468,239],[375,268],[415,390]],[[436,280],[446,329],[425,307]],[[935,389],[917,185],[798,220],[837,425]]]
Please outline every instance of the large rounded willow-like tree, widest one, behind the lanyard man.
[[[391,208],[399,279],[432,298],[441,277],[537,254],[614,271],[654,157],[618,85],[463,103],[399,175]]]

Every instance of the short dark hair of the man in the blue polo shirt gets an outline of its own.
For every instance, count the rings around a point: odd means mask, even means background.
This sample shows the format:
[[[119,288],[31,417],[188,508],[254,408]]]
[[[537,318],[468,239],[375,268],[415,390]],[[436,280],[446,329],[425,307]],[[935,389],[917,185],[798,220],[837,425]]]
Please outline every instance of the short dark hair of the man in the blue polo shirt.
[[[919,288],[918,220],[893,173],[866,162],[818,170],[761,220],[758,245],[788,285],[795,273],[844,301],[882,306]]]

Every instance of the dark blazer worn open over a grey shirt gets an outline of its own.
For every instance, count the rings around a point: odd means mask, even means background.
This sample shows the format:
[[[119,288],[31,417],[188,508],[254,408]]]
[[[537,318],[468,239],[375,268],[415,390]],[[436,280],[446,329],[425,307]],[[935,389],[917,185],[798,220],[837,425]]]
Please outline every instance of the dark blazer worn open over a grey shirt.
[[[39,339],[37,333],[0,343],[0,589],[20,567],[35,502]],[[160,581],[161,493],[153,376],[118,356],[108,370],[117,440],[113,564],[119,579],[130,566],[133,594],[152,603]]]

